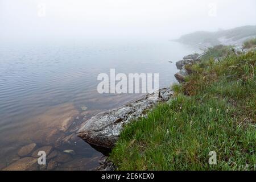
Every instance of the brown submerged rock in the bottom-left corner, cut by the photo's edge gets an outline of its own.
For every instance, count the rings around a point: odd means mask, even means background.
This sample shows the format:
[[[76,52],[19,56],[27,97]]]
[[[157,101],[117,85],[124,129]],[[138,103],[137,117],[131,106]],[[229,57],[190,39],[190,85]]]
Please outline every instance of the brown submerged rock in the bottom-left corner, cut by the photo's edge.
[[[3,169],[3,171],[36,171],[38,170],[38,166],[37,158],[26,157],[19,159],[10,166],[7,166]]]

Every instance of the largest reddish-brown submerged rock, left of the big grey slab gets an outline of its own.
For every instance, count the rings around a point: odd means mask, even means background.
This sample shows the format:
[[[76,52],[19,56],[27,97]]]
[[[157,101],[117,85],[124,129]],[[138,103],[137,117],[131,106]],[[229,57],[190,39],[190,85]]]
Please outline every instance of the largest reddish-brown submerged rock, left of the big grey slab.
[[[66,137],[64,132],[70,129],[77,115],[79,111],[73,104],[54,106],[42,114],[27,119],[27,124],[17,131],[16,135],[11,135],[10,140],[17,143],[32,140],[44,146],[57,146],[61,139]]]

